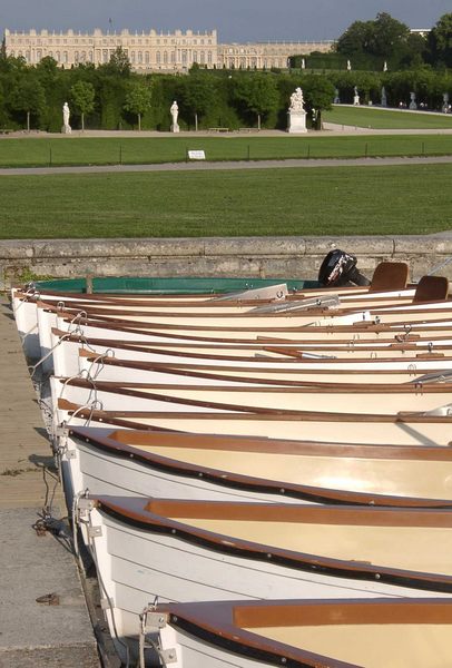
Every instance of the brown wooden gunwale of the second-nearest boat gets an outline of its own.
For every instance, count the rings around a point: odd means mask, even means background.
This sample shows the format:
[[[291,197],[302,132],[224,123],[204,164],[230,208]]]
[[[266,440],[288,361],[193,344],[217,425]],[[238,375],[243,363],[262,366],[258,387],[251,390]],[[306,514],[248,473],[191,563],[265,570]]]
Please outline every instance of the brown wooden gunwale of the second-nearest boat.
[[[342,560],[331,557],[312,554],[306,552],[297,552],[265,543],[253,542],[242,538],[232,538],[223,533],[191,527],[163,514],[158,514],[164,509],[173,509],[171,514],[176,514],[176,510],[183,507],[181,517],[185,519],[202,518],[205,514],[199,514],[206,509],[209,519],[225,519],[225,507],[228,507],[230,514],[232,509],[235,517],[227,519],[244,519],[244,514],[248,521],[269,521],[271,518],[282,520],[287,515],[295,520],[294,515],[325,515],[326,519],[335,519],[332,513],[345,515],[343,521],[348,521],[351,524],[358,524],[356,518],[364,515],[365,519],[372,518],[370,525],[394,527],[394,522],[377,523],[375,518],[383,520],[384,514],[401,515],[397,527],[435,527],[452,528],[452,512],[449,510],[433,509],[393,509],[393,508],[369,508],[369,507],[346,507],[346,505],[301,505],[301,504],[281,504],[281,503],[234,503],[223,501],[178,501],[163,499],[144,499],[135,497],[107,497],[100,494],[88,494],[87,497],[94,507],[105,515],[118,521],[125,525],[132,527],[140,531],[161,533],[170,536],[174,539],[186,541],[190,544],[198,546],[203,549],[214,550],[215,552],[229,554],[237,558],[252,559],[265,563],[274,563],[285,568],[301,570],[303,572],[315,572],[318,574],[350,578],[353,580],[376,580],[384,584],[394,584],[397,587],[410,587],[420,590],[431,590],[443,593],[452,592],[452,576],[441,573],[431,573],[423,571],[413,571],[407,569],[399,569],[392,567],[381,567],[369,562]],[[147,501],[144,508],[140,503]],[[219,514],[218,514],[219,513]],[[375,514],[377,513],[377,514]],[[179,513],[180,517],[180,513]],[[443,522],[433,522],[435,518],[442,519]],[[419,518],[419,519],[417,519]],[[423,518],[423,521],[420,521]],[[449,521],[445,522],[444,518]],[[322,518],[325,521],[325,518]],[[355,520],[354,522],[351,520]],[[417,522],[415,520],[417,519]],[[335,523],[338,522],[326,522]]]

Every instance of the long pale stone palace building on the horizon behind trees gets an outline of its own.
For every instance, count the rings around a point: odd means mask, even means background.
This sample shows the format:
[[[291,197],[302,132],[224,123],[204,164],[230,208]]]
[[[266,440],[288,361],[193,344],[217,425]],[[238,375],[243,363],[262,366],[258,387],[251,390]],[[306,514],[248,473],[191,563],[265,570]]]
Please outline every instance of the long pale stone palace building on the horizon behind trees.
[[[21,56],[29,65],[55,58],[62,68],[83,62],[106,63],[118,47],[127,53],[131,67],[140,72],[184,72],[195,62],[207,69],[285,68],[289,56],[330,51],[333,42],[255,42],[220,45],[217,31],[194,32],[29,32],[4,31],[8,56]]]

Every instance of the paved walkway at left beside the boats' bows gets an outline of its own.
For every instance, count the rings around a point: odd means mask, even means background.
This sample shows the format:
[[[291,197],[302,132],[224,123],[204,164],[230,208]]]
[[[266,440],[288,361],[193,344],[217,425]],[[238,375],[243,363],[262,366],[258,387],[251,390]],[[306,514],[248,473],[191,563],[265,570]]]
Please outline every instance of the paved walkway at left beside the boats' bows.
[[[37,396],[9,304],[0,298],[0,667],[97,668],[75,559],[62,539],[38,537],[43,505],[65,514]],[[56,593],[59,605],[37,602]]]

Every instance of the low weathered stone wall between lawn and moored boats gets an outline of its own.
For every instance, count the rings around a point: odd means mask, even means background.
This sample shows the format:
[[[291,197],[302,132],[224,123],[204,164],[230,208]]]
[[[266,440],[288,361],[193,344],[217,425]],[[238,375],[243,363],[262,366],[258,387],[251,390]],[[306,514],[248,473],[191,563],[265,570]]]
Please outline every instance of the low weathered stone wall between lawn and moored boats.
[[[55,239],[0,242],[4,285],[38,276],[261,276],[315,278],[332,248],[358,258],[371,276],[381,261],[405,261],[419,279],[452,257],[452,238],[240,237],[177,239]],[[439,274],[452,279],[452,262]]]

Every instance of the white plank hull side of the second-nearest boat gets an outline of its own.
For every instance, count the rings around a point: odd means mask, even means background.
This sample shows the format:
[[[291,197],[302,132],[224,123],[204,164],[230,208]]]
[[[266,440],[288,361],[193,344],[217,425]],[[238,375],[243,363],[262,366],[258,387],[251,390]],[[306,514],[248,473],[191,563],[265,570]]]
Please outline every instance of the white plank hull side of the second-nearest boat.
[[[156,597],[161,603],[432,596],[429,590],[303,572],[271,560],[263,562],[249,556],[244,559],[239,554],[217,552],[181,540],[177,534],[153,533],[122,524],[97,509],[90,512],[90,523],[101,527],[101,536],[92,539],[91,548],[106,593],[114,601],[116,628],[120,638],[130,638],[132,647],[139,632],[139,615]],[[400,529],[402,546],[403,530]],[[271,533],[269,527],[268,530]],[[429,540],[428,534],[428,531],[420,533],[420,540]],[[225,540],[234,541],[232,537]],[[272,540],[271,534],[268,540]],[[356,559],[360,559],[358,550]],[[448,595],[435,592],[434,596]],[[111,619],[109,622],[111,631]],[[118,645],[117,648],[120,650]]]

